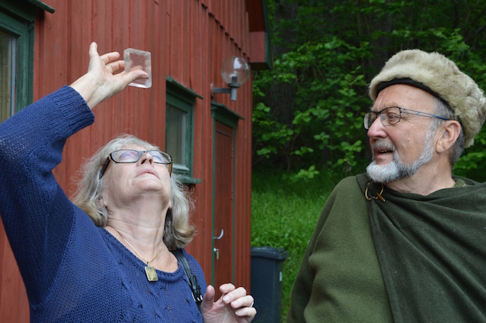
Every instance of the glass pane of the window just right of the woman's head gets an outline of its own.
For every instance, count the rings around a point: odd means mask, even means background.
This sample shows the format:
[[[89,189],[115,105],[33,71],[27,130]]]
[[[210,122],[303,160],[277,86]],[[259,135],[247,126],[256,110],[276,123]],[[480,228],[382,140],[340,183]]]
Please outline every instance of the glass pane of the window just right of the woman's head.
[[[187,113],[167,103],[165,106],[165,151],[175,164],[185,165],[185,122]],[[187,166],[187,165],[186,165]]]

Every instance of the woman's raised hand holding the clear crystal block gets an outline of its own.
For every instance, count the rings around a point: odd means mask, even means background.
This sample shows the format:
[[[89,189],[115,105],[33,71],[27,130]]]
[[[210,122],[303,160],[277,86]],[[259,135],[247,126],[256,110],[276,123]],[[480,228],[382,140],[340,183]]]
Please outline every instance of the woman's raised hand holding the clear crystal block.
[[[149,78],[149,74],[140,69],[125,73],[125,63],[117,60],[119,57],[120,54],[116,51],[99,56],[97,43],[90,44],[90,65],[87,73],[71,85],[90,108],[117,94],[137,78]],[[119,73],[115,74],[117,72]]]

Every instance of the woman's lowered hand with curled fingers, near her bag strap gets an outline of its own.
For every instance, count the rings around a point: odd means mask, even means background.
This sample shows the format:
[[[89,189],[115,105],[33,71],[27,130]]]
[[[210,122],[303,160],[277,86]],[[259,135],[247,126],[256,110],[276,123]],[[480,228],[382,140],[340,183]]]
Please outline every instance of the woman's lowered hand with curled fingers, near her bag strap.
[[[253,308],[253,297],[246,295],[242,287],[235,288],[231,283],[219,286],[223,294],[215,301],[215,288],[208,285],[206,295],[201,303],[201,313],[205,323],[248,323],[253,320],[256,310]]]

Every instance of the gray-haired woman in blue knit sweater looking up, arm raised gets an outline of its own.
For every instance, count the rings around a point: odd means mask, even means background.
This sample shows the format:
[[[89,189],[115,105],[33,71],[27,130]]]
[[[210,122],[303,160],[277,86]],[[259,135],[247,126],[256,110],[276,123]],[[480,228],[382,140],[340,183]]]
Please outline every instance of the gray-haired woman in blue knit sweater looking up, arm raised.
[[[147,77],[114,74],[124,68],[118,58],[100,57],[92,43],[87,74],[0,124],[0,214],[31,322],[250,322],[253,297],[227,283],[214,301],[182,249],[194,228],[169,154],[122,136],[85,164],[74,204],[56,182],[51,171],[66,139],[94,122],[90,108]]]

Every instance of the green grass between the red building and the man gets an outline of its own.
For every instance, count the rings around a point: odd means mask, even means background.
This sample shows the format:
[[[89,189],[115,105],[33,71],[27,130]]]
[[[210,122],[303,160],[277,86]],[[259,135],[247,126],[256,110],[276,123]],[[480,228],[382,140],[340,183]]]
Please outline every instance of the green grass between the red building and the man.
[[[282,173],[253,172],[251,245],[289,252],[284,262],[282,322],[290,308],[292,285],[331,185],[325,174],[307,182],[290,183]]]

